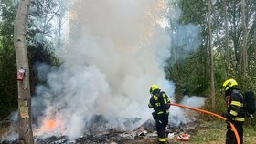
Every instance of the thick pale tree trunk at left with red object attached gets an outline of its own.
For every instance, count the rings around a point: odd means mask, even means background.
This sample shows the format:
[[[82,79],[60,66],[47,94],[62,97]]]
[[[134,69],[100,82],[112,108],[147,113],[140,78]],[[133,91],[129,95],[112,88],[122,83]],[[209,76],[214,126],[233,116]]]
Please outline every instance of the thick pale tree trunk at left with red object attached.
[[[18,87],[18,134],[20,143],[34,144],[31,127],[31,96],[29,86],[29,67],[26,47],[26,27],[30,0],[20,0],[16,13],[14,43],[16,48],[16,67],[20,77]],[[24,74],[24,75],[22,75]],[[22,77],[24,76],[24,77]]]

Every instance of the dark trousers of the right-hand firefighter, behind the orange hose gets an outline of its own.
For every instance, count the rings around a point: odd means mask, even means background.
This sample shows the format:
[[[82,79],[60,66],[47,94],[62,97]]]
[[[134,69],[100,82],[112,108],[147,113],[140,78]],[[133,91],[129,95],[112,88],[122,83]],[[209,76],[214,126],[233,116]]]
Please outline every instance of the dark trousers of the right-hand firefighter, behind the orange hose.
[[[238,134],[240,136],[240,144],[243,143],[243,122],[233,122],[233,125],[238,131]],[[237,139],[235,136],[234,131],[231,129],[230,125],[227,126],[227,134],[226,134],[226,144],[237,144]]]

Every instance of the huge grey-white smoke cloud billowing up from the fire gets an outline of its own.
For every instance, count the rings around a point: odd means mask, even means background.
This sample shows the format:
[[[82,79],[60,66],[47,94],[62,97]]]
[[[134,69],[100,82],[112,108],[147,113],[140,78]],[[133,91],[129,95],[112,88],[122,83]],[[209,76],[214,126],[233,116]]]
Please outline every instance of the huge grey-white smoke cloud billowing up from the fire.
[[[69,44],[58,52],[63,64],[37,67],[47,81],[33,99],[34,113],[42,118],[36,135],[76,138],[95,114],[111,119],[112,127],[113,118],[151,118],[152,84],[174,96],[175,84],[164,72],[172,44],[168,19],[180,16],[173,3],[77,0],[70,13]],[[46,123],[50,119],[58,122]],[[57,129],[49,132],[48,125]]]

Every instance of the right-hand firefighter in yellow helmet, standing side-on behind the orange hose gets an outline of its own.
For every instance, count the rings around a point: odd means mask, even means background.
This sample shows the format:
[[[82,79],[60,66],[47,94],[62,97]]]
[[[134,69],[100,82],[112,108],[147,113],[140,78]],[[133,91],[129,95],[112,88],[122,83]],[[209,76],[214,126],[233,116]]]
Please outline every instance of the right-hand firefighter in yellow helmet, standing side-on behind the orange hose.
[[[225,101],[227,104],[227,113],[222,116],[226,118],[227,134],[226,144],[236,144],[237,140],[230,127],[232,123],[237,129],[240,136],[240,143],[243,143],[243,123],[245,121],[246,111],[244,110],[244,98],[238,87],[238,83],[234,79],[228,79],[223,83],[225,91]]]

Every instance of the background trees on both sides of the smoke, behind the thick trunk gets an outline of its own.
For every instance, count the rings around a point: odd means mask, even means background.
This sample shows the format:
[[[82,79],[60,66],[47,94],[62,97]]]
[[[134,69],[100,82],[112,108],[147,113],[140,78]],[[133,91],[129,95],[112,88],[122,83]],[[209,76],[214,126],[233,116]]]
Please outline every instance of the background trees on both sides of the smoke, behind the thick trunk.
[[[2,0],[0,4],[1,119],[17,107],[13,44],[17,3],[15,0]],[[167,79],[176,83],[176,100],[184,94],[205,96],[206,108],[220,112],[224,108],[221,85],[229,77],[237,79],[241,88],[256,91],[256,1],[180,0],[176,5],[182,10],[180,24],[200,26],[200,46],[197,51],[189,53],[185,59],[170,57],[165,67]],[[66,10],[67,5],[61,0],[34,0],[31,4],[27,51],[32,96],[37,83],[43,82],[37,78],[37,63],[47,63],[53,67],[59,65],[59,59],[53,51],[62,43]],[[172,29],[176,29],[171,20],[170,24]],[[184,52],[180,49],[182,46],[173,44],[171,56],[182,56]]]

